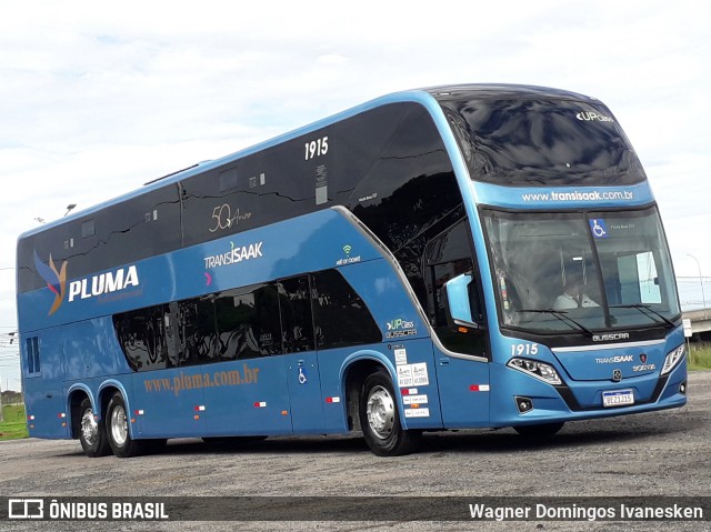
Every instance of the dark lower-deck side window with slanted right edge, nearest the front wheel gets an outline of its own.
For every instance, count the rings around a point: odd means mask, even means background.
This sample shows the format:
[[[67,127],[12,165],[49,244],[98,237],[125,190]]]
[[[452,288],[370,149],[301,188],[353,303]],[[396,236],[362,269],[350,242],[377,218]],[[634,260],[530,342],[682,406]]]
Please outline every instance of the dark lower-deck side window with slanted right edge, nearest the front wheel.
[[[313,320],[318,349],[378,343],[382,334],[368,307],[336,270],[314,273]]]

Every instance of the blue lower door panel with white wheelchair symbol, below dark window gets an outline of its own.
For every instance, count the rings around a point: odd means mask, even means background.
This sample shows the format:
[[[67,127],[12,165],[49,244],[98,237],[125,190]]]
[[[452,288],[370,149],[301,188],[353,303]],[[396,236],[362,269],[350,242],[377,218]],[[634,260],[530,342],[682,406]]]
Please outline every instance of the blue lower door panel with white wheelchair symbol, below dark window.
[[[319,359],[314,351],[286,357],[291,402],[291,425],[297,434],[323,433],[323,404]]]

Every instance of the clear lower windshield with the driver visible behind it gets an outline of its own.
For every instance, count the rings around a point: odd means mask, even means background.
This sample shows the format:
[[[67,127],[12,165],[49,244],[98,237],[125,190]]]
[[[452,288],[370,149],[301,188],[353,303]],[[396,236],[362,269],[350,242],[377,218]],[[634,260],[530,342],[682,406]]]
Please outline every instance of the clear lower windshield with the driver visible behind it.
[[[501,325],[539,333],[671,327],[680,313],[655,207],[483,212]]]

